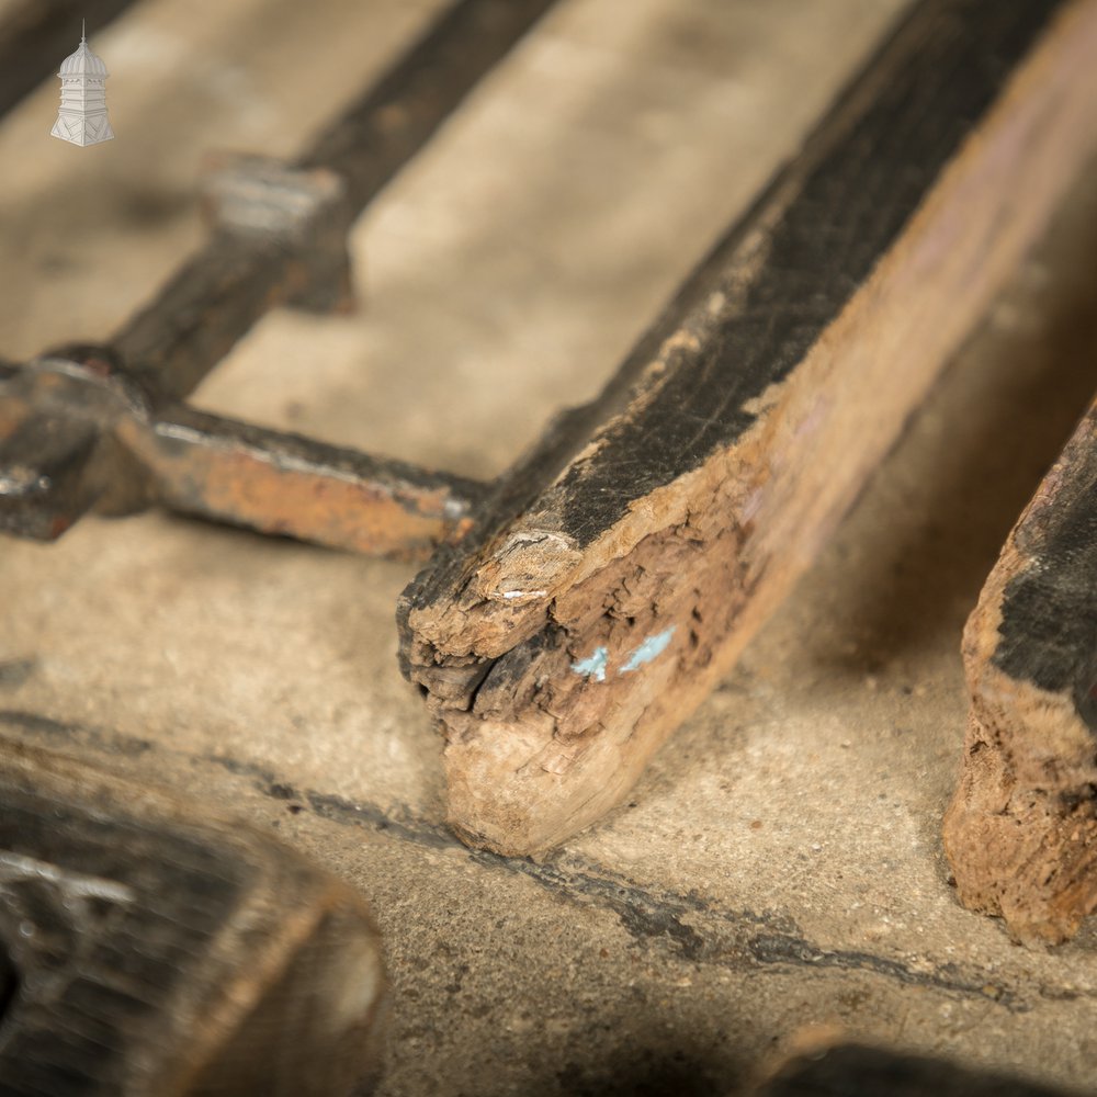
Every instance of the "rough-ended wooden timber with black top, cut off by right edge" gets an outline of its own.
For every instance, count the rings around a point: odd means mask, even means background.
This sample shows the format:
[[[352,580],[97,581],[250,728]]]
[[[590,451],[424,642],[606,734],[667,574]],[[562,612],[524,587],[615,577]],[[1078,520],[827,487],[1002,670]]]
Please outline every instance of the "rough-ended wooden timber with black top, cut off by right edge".
[[[1097,404],[1010,533],[963,655],[945,819],[960,898],[1058,943],[1097,911]]]

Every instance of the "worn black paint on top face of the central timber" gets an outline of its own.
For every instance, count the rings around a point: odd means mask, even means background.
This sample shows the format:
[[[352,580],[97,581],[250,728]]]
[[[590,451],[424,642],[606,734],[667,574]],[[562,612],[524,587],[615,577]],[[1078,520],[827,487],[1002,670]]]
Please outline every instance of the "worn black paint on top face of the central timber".
[[[742,436],[756,418],[750,402],[789,376],[864,284],[1062,8],[1062,0],[914,7],[774,181],[772,201],[732,229],[642,342],[646,357],[653,343],[688,337],[654,382],[658,398],[614,421],[553,486],[545,509],[561,516],[561,532],[585,547],[634,500]],[[785,188],[794,197],[781,211]],[[744,242],[767,206],[780,213],[760,230],[764,261],[750,273]],[[723,302],[715,314],[713,299]],[[630,360],[623,370],[646,364]]]

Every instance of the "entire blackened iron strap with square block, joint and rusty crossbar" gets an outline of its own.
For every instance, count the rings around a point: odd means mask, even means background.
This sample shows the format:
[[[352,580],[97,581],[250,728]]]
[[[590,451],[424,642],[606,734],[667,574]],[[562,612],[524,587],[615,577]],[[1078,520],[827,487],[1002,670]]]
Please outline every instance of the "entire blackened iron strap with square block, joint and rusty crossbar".
[[[296,166],[216,165],[210,242],[108,347],[0,372],[0,530],[50,539],[92,507],[158,501],[383,555],[460,535],[472,480],[178,402],[271,307],[349,307],[354,217],[551,4],[462,0]]]

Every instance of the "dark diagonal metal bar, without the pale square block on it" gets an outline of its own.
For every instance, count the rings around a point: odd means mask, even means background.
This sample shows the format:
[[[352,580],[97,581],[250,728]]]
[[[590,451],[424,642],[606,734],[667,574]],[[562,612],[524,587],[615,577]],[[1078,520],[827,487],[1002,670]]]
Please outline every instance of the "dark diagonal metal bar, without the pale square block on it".
[[[114,338],[127,369],[178,399],[273,305],[317,280],[341,281],[353,217],[550,7],[459,0],[302,158],[299,178],[337,189],[324,230],[296,246],[280,233],[218,233]]]

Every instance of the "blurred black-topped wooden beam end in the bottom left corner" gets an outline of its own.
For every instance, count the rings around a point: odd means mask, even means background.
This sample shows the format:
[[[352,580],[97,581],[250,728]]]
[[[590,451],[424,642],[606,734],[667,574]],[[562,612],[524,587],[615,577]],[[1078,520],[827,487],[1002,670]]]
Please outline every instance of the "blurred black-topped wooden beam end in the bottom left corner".
[[[0,755],[0,1092],[362,1092],[385,979],[355,892],[194,805]]]

